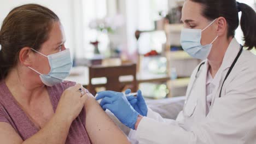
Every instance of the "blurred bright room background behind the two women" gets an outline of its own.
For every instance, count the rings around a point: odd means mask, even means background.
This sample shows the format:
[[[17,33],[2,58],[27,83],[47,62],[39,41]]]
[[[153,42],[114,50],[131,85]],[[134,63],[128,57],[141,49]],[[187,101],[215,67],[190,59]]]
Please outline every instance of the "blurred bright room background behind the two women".
[[[256,8],[255,0],[240,0]],[[184,96],[200,63],[182,50],[178,0],[0,0],[0,22],[14,7],[42,4],[61,19],[73,69],[67,78],[92,93],[141,89],[148,99]],[[242,31],[236,38],[243,44]]]

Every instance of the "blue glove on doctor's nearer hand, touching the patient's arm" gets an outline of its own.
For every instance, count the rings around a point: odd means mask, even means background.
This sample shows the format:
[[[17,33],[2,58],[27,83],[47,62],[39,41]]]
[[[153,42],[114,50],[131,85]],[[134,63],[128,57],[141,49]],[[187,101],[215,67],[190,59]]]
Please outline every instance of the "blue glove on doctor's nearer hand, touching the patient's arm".
[[[123,93],[103,91],[98,93],[96,100],[99,99],[102,99],[100,105],[103,110],[110,110],[121,123],[135,129],[139,113],[133,109]]]

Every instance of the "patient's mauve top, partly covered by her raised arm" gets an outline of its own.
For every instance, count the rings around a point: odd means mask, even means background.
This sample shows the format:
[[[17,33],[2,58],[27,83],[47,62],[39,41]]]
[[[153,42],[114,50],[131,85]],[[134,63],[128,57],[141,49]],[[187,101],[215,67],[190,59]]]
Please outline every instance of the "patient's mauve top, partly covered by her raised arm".
[[[74,82],[62,82],[53,87],[47,87],[54,112],[56,111],[61,94],[68,87],[74,86]],[[0,82],[0,122],[9,123],[22,140],[26,140],[36,134],[39,129],[30,121],[25,112],[16,103],[4,81]],[[61,133],[61,131],[60,131]],[[72,122],[67,136],[66,144],[90,143],[85,129],[85,110]]]

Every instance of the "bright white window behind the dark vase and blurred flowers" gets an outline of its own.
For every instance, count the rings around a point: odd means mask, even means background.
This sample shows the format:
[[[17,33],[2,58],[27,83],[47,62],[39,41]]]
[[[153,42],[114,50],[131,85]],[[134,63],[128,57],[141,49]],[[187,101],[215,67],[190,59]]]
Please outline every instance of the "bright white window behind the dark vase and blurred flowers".
[[[91,29],[89,24],[92,20],[103,19],[107,16],[107,0],[83,0],[75,1],[76,28],[76,58],[90,58],[94,55],[94,46],[90,42],[100,40],[99,48],[108,45],[106,35]],[[105,48],[106,49],[106,48]]]

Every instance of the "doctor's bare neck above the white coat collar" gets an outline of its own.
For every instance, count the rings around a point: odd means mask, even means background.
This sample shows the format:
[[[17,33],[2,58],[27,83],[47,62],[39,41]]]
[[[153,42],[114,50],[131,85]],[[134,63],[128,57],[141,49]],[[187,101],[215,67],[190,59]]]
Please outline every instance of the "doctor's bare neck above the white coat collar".
[[[216,76],[220,66],[222,65],[223,58],[231,40],[232,38],[226,39],[219,37],[219,40],[216,41],[216,43],[213,43],[211,53],[207,58],[208,63],[210,64],[209,70],[213,78]]]

